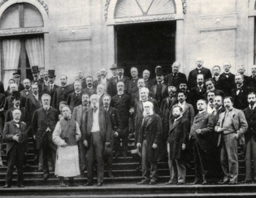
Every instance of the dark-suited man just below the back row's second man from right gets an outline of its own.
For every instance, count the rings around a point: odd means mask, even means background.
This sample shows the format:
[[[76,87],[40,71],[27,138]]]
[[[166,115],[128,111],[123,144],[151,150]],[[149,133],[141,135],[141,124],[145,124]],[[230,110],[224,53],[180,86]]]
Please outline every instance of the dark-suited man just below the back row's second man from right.
[[[236,109],[245,109],[248,106],[247,102],[247,95],[250,91],[250,88],[245,86],[243,84],[243,75],[237,74],[235,75],[235,85],[237,86],[236,88],[232,89],[231,95],[232,98],[234,99],[233,106]]]

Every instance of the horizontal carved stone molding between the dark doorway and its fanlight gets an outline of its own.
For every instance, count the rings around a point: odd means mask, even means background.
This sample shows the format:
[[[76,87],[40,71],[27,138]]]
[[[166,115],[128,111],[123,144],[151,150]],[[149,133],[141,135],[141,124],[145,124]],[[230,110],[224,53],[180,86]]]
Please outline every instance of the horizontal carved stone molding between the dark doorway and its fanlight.
[[[115,19],[115,23],[136,23],[136,22],[150,22],[157,20],[175,20],[175,15],[160,15],[160,16],[147,16],[147,17],[132,17]]]

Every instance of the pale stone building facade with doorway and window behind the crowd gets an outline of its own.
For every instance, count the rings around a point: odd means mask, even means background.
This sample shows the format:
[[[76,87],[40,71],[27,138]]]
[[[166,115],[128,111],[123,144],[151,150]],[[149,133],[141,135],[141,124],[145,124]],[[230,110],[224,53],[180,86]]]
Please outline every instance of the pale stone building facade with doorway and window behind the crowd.
[[[117,62],[126,72],[169,72],[175,60],[188,75],[197,57],[207,68],[244,65],[250,75],[255,16],[255,0],[2,0],[1,79],[17,69],[31,78],[33,65],[69,82],[78,69],[96,78]]]

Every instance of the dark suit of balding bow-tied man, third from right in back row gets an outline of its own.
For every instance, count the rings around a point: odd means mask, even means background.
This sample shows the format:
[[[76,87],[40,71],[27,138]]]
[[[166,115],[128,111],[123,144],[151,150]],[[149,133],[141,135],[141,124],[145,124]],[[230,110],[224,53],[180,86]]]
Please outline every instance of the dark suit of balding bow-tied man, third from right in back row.
[[[234,75],[229,73],[228,78],[226,77],[226,73],[222,73],[218,80],[219,86],[216,87],[224,91],[226,96],[231,96],[231,90],[235,88]]]

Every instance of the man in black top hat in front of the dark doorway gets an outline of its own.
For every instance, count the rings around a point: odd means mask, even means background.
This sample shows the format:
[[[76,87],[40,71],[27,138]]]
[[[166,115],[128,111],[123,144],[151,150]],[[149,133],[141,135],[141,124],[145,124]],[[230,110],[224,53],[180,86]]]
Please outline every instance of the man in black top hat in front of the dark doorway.
[[[162,99],[168,95],[168,87],[164,82],[162,67],[156,68],[156,80],[157,84],[151,87],[153,98],[158,102],[158,106],[161,106]]]

